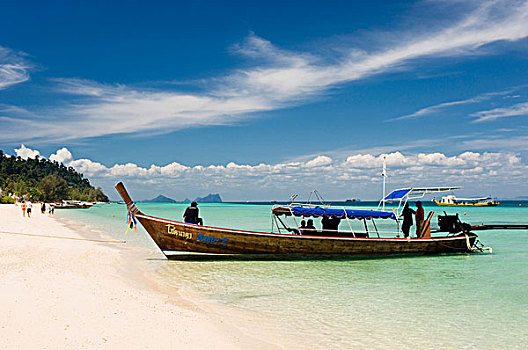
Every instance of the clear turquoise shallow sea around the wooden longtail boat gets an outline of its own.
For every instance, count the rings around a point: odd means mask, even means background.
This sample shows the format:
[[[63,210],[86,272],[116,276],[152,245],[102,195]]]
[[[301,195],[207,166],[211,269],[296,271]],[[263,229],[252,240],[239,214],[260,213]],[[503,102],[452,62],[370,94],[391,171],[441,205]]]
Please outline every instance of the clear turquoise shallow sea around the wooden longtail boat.
[[[377,205],[336,204],[359,209]],[[201,203],[199,208],[208,226],[269,232],[272,205]],[[138,203],[144,213],[174,220],[181,220],[186,206]],[[425,210],[426,215],[458,213],[471,224],[528,224],[526,201],[486,208],[440,208],[425,202]],[[166,286],[238,315],[233,322],[241,330],[279,345],[287,342],[285,348],[527,348],[528,230],[476,232],[492,254],[173,261],[164,259],[142,227],[125,235],[125,205],[55,213],[70,224],[126,239],[127,246],[148,252],[149,273]]]

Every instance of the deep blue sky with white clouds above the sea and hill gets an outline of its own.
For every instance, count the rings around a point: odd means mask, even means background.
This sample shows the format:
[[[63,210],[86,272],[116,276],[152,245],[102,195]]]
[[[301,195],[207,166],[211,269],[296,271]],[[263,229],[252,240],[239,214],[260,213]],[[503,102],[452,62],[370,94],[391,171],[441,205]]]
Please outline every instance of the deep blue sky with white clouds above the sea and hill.
[[[528,194],[527,1],[25,2],[0,148],[116,198]],[[22,147],[22,145],[24,145]]]

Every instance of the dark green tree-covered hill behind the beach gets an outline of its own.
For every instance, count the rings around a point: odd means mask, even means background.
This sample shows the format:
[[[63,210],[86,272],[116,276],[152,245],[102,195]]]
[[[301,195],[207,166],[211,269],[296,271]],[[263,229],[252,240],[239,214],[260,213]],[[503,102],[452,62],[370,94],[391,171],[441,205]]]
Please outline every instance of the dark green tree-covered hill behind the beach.
[[[0,150],[0,196],[2,202],[14,202],[8,194],[29,200],[54,202],[64,199],[108,202],[100,187],[94,188],[72,167],[36,156],[23,159]]]

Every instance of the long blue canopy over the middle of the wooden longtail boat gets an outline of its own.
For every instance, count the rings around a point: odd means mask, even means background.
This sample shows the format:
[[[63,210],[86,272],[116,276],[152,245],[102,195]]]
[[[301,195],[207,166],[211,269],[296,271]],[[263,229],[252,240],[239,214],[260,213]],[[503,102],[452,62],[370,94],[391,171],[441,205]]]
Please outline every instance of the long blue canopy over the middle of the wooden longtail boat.
[[[348,217],[349,219],[393,219],[396,220],[396,215],[390,211],[378,210],[357,210],[357,209],[338,209],[338,208],[323,208],[312,206],[279,206],[272,209],[275,215],[295,215],[295,216],[313,216],[321,217],[337,216],[340,219]]]

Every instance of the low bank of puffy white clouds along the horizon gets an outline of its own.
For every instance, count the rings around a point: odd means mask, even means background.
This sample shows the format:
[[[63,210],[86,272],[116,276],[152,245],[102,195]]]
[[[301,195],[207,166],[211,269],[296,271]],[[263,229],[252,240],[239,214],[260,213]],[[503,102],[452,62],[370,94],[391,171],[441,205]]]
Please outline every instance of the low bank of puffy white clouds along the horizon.
[[[40,155],[24,145],[17,155]],[[286,198],[291,192],[306,198],[314,188],[325,198],[379,197],[383,158],[388,167],[389,188],[403,186],[461,185],[486,195],[510,195],[528,191],[528,165],[511,152],[443,153],[391,152],[356,154],[345,159],[318,156],[307,161],[256,165],[237,164],[186,166],[178,162],[142,167],[134,163],[105,166],[90,159],[75,159],[67,148],[50,155],[50,160],[71,166],[113,198],[113,185],[124,181],[135,193],[150,198],[161,192],[174,198],[220,192],[228,200]],[[202,193],[203,192],[203,193]],[[468,193],[471,195],[471,192]],[[473,193],[475,194],[475,193]],[[282,197],[281,197],[282,196]],[[287,199],[287,198],[286,198]]]

